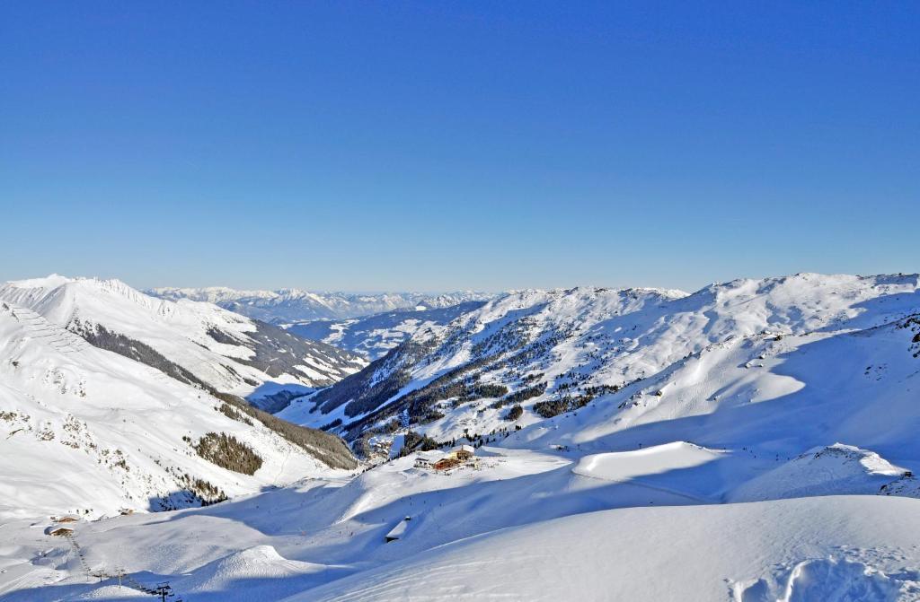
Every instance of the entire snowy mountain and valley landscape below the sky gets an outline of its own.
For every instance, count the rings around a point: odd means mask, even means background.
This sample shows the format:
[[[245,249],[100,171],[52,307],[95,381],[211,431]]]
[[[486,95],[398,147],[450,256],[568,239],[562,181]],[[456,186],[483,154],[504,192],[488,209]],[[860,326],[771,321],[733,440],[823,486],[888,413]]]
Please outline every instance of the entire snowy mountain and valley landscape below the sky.
[[[0,599],[917,600],[918,429],[916,274],[8,282]]]

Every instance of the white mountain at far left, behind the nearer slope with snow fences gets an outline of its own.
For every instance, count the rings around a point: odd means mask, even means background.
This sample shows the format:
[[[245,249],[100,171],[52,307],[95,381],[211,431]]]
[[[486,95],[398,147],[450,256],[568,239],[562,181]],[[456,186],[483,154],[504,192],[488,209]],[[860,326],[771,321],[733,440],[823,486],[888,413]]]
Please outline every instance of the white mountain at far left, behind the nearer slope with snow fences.
[[[279,392],[326,386],[366,364],[212,303],[156,299],[119,280],[54,275],[7,282],[0,300],[180,381],[253,399],[283,401]]]

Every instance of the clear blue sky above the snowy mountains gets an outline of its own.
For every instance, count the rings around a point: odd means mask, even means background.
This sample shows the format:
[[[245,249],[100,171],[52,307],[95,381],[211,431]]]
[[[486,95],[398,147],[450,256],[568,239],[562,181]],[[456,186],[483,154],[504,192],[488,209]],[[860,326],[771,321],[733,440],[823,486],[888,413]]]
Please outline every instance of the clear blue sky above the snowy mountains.
[[[917,2],[5,2],[0,279],[920,270]]]

